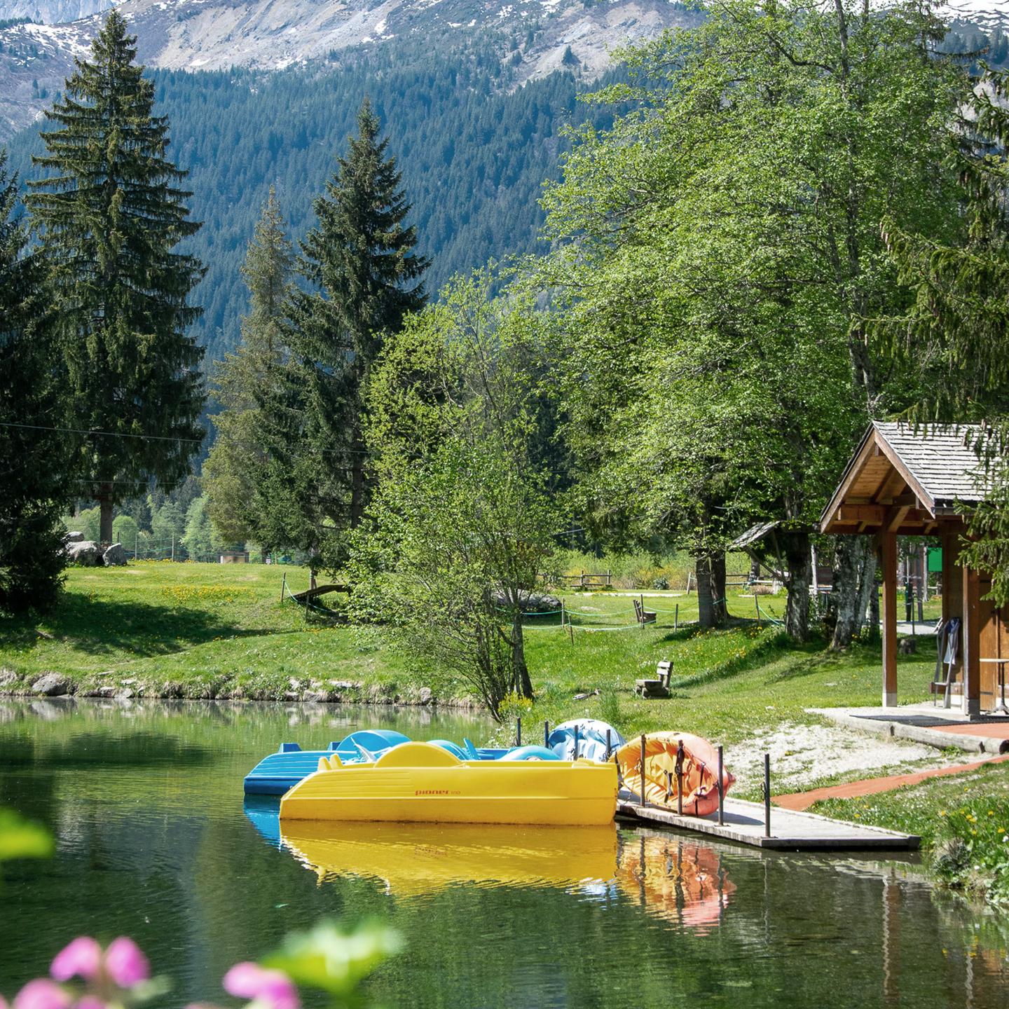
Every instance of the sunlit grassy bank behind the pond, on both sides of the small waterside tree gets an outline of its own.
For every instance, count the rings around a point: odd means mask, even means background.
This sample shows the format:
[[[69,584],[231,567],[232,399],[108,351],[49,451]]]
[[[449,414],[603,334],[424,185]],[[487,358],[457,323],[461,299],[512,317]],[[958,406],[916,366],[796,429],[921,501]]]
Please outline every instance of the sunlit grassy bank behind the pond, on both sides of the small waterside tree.
[[[34,622],[0,624],[5,689],[27,690],[39,676],[68,676],[77,692],[252,699],[393,699],[411,701],[435,685],[457,690],[387,647],[380,634],[330,627],[281,603],[281,582],[296,589],[308,572],[261,565],[141,562],[69,572],[58,609]],[[572,592],[565,619],[530,621],[527,654],[538,698],[513,714],[557,721],[600,716],[626,732],[677,725],[732,743],[760,726],[808,720],[804,708],[873,703],[878,650],[838,657],[813,644],[796,649],[771,623],[783,599],[736,595],[733,627],[701,633],[696,596],[646,596],[654,625],[635,624],[633,599],[615,592]],[[770,620],[768,619],[770,618]],[[662,659],[674,665],[674,696],[643,701],[635,680]],[[902,668],[902,684],[923,691],[927,656]],[[10,673],[16,675],[16,679]],[[598,691],[598,693],[596,693]],[[590,696],[575,700],[577,694]]]

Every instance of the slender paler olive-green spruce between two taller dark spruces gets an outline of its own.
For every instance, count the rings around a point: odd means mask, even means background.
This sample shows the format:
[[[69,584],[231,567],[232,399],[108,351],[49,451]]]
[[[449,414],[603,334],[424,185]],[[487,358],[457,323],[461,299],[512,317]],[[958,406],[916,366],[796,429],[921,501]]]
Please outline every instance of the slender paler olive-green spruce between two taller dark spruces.
[[[222,410],[213,418],[217,438],[203,467],[209,516],[220,534],[236,543],[255,537],[256,473],[267,449],[260,411],[288,356],[284,319],[293,258],[270,187],[242,267],[249,311],[241,321],[241,342],[217,367],[214,399]]]

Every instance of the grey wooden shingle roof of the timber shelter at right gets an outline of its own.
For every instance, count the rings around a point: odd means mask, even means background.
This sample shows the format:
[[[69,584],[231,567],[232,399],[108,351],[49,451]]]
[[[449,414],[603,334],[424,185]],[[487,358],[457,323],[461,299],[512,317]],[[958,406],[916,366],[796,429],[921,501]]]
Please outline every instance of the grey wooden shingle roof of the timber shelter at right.
[[[918,428],[874,421],[873,427],[921,484],[934,507],[978,501],[984,496],[979,461],[965,442],[981,430],[979,424]]]

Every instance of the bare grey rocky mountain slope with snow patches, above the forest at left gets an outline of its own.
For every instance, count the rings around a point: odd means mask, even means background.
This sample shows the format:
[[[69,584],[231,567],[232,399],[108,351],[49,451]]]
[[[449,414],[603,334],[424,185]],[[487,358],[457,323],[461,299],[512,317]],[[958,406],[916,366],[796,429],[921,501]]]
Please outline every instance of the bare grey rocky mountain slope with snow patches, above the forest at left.
[[[110,6],[109,0],[0,4],[0,12],[32,4]],[[124,0],[117,6],[137,36],[139,59],[151,67],[284,70],[394,39],[437,50],[453,36],[489,32],[499,39],[500,59],[519,68],[520,81],[562,66],[592,79],[609,65],[614,47],[699,16],[670,0]],[[37,117],[74,57],[88,50],[101,18],[0,29],[0,138]]]

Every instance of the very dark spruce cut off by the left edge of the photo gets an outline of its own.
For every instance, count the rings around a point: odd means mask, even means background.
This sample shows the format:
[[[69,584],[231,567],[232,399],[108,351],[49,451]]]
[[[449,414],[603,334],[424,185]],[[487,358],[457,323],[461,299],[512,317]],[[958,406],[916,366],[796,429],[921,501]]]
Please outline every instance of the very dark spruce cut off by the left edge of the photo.
[[[71,482],[51,318],[37,261],[14,217],[17,179],[0,149],[0,612],[55,602],[64,566],[60,517]]]

